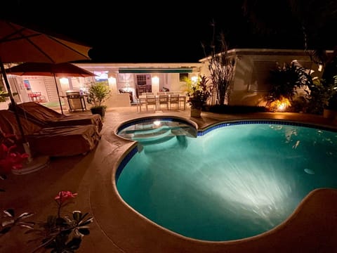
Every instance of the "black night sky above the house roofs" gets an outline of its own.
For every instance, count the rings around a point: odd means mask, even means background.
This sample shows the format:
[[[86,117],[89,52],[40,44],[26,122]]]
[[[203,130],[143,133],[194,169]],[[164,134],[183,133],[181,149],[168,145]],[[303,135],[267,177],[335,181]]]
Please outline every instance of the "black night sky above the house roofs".
[[[7,0],[0,18],[87,44],[98,63],[197,62],[205,56],[201,42],[211,42],[212,20],[230,48],[303,48],[302,34],[288,18],[276,16],[282,28],[263,35],[254,32],[240,0],[188,2]]]

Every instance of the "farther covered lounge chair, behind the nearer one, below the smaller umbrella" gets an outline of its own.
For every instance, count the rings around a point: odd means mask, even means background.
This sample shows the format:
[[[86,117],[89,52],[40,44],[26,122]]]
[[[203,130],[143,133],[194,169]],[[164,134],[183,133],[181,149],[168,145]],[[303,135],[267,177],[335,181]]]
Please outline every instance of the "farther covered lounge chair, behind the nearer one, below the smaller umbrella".
[[[13,111],[13,108],[10,106],[8,110]],[[94,124],[98,132],[100,132],[103,127],[102,117],[100,117],[100,115],[62,115],[51,108],[47,108],[35,102],[18,104],[17,112],[35,124],[43,127]]]

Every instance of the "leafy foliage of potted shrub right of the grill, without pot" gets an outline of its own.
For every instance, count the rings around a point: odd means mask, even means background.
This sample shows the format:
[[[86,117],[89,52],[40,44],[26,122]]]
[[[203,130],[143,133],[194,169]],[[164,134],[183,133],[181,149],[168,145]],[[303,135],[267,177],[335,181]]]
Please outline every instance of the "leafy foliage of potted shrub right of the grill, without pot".
[[[93,105],[92,108],[104,107],[102,103],[110,97],[110,88],[106,82],[91,82],[88,86],[86,100]]]

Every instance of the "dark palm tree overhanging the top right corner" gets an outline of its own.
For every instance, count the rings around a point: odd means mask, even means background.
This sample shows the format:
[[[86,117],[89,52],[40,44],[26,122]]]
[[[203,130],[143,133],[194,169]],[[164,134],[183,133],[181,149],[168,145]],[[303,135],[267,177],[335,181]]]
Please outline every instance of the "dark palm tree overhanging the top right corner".
[[[303,34],[303,49],[308,52],[312,61],[323,65],[323,77],[333,80],[337,72],[337,44],[333,42],[336,41],[334,37],[337,23],[337,1],[244,0],[242,8],[244,15],[256,27],[256,32],[272,34],[293,26],[300,27]],[[285,17],[288,18],[285,20]],[[331,48],[326,48],[327,44]],[[333,53],[327,54],[326,49],[332,49]]]

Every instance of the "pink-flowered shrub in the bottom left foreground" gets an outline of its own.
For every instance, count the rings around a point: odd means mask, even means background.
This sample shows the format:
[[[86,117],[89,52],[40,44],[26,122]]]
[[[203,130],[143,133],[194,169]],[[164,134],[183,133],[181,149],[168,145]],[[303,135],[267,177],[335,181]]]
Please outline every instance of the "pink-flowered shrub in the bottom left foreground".
[[[57,214],[48,215],[46,221],[27,221],[33,213],[25,212],[15,217],[13,209],[4,210],[4,215],[0,216],[0,235],[8,233],[14,226],[19,226],[28,229],[25,234],[37,235],[36,239],[29,240],[40,241],[32,252],[38,252],[42,248],[49,249],[52,253],[75,252],[79,249],[82,238],[90,234],[89,224],[93,221],[88,213],[82,214],[77,210],[72,215],[62,215],[62,208],[70,204],[70,200],[76,195],[77,193],[70,191],[60,191],[54,198],[58,205]]]

